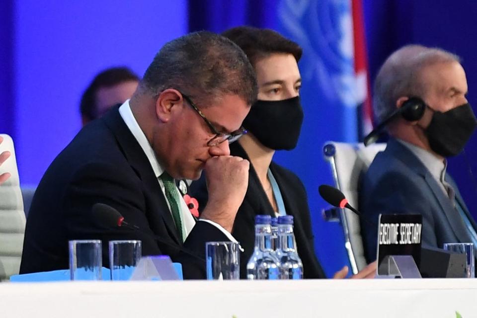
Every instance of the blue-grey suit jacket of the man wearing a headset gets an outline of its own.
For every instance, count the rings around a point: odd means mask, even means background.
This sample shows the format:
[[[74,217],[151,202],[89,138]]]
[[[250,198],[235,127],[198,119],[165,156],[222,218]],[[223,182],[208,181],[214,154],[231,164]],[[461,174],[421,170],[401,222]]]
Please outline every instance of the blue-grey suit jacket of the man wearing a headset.
[[[456,201],[476,224],[457,185],[446,176],[456,192]],[[390,139],[365,174],[360,193],[361,212],[372,222],[361,222],[368,261],[376,259],[378,216],[380,213],[422,215],[422,245],[442,248],[446,242],[472,242],[467,227],[448,196],[424,164],[396,139]],[[370,224],[373,223],[373,224]]]

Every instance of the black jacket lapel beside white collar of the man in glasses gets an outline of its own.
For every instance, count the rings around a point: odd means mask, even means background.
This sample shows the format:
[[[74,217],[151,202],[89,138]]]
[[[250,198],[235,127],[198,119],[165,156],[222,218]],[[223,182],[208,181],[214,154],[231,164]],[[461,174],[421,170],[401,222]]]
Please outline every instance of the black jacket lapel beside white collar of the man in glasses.
[[[178,244],[182,244],[177,237],[177,232],[174,225],[172,215],[169,213],[169,208],[162,190],[159,185],[159,181],[156,178],[154,170],[149,162],[143,149],[133,136],[128,126],[119,114],[119,107],[114,107],[104,117],[106,125],[113,132],[119,147],[121,148],[124,156],[131,164],[131,167],[136,171],[139,178],[144,182],[147,189],[151,189],[153,196],[152,200],[156,203],[153,207],[156,213],[159,213],[164,220],[167,228],[167,232],[170,237],[174,239]]]

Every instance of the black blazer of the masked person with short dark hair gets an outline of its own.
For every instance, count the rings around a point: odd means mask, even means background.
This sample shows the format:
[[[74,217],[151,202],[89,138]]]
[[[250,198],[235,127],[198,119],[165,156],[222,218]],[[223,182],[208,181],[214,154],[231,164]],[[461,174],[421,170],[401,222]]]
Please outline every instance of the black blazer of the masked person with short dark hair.
[[[230,145],[232,156],[248,159],[239,143]],[[300,179],[290,170],[272,161],[270,169],[277,180],[283,197],[287,214],[294,218],[294,232],[298,254],[303,262],[305,278],[326,278],[315,254],[314,236],[312,232],[310,209],[305,187]],[[207,202],[207,187],[202,177],[193,182],[190,193],[199,201],[199,209]],[[250,164],[248,188],[242,205],[235,218],[232,235],[245,250],[240,255],[240,277],[246,277],[246,265],[255,245],[255,216],[268,214],[275,217],[275,212],[268,201],[255,169]]]

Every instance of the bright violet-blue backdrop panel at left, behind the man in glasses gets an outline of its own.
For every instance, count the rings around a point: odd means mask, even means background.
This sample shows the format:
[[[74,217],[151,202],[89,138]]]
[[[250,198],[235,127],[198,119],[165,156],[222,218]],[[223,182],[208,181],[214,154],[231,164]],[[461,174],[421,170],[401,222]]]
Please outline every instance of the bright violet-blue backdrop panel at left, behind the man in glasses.
[[[80,95],[96,73],[127,65],[142,75],[187,32],[185,0],[0,2],[0,131],[15,140],[22,184],[37,184],[79,131]]]

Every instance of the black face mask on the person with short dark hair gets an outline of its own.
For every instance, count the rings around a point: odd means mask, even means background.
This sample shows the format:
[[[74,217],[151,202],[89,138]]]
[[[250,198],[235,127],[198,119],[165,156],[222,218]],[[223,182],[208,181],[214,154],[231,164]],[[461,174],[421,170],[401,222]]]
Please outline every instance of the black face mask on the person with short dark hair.
[[[284,100],[257,100],[243,121],[265,147],[292,150],[297,146],[303,122],[300,97]]]

